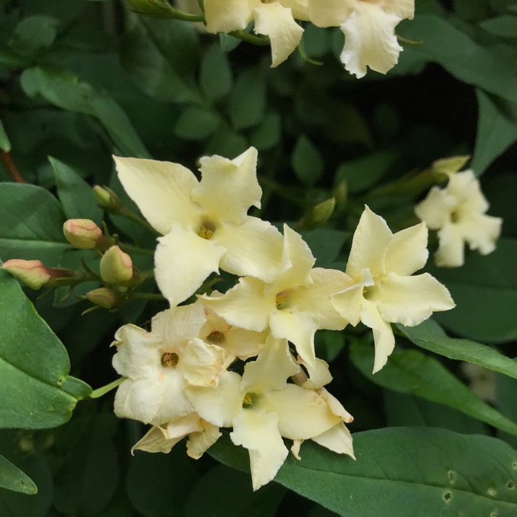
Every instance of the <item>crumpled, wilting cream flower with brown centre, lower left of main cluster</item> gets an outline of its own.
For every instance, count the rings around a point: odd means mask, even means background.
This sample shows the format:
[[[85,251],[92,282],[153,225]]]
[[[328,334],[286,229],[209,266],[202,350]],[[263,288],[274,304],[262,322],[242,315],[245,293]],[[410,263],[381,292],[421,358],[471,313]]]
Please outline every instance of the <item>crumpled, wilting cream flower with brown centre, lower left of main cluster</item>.
[[[192,414],[187,385],[216,385],[225,370],[223,348],[198,336],[206,323],[201,303],[159,313],[152,332],[124,325],[115,334],[113,366],[127,377],[115,396],[115,413],[163,425]]]

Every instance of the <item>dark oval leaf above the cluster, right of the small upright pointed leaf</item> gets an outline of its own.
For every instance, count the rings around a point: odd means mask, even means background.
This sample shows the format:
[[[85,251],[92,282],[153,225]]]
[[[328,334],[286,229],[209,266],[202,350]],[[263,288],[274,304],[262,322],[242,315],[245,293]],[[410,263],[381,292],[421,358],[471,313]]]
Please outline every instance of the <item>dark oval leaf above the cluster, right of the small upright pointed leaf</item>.
[[[237,130],[253,128],[265,115],[266,74],[263,68],[245,68],[228,98],[230,119]]]

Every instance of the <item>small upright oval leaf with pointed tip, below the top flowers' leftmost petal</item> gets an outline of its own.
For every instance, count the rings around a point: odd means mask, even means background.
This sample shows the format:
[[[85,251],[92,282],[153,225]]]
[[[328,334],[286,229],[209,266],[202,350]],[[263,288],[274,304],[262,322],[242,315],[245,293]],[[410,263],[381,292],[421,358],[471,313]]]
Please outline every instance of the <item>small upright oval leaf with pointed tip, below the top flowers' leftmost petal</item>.
[[[217,43],[210,46],[201,61],[199,83],[209,101],[219,101],[232,90],[232,68]]]

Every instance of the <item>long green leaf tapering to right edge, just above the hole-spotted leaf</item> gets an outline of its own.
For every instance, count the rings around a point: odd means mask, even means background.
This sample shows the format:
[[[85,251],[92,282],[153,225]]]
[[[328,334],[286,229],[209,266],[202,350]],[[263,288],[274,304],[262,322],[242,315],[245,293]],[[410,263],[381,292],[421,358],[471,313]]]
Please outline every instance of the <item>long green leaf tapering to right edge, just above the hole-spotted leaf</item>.
[[[372,374],[373,347],[352,343],[350,360],[374,384],[447,405],[517,436],[517,423],[481,400],[435,358],[418,350],[395,350],[385,367],[376,374]]]

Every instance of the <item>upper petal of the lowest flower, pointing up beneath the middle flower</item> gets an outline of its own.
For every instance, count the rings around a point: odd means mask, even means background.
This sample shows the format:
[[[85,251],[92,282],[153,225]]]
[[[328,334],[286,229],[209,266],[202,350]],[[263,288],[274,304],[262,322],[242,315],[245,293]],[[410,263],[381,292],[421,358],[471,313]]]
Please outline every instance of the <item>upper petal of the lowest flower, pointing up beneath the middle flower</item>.
[[[241,392],[259,394],[270,389],[282,389],[287,385],[287,378],[299,371],[300,367],[294,363],[287,341],[270,336],[256,360],[246,363]]]

